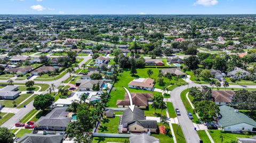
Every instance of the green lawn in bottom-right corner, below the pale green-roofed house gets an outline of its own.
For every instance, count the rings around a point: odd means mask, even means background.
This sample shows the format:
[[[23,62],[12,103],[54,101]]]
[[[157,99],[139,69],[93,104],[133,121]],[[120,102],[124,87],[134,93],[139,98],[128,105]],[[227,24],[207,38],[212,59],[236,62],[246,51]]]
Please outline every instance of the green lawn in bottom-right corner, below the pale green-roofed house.
[[[245,134],[235,134],[235,133],[231,133],[231,132],[225,132],[225,131],[221,131],[221,130],[209,130],[209,133],[212,137],[212,139],[214,140],[214,142],[221,142],[221,134],[223,136],[223,141],[222,142],[230,142],[231,140],[237,140],[237,137],[241,137],[241,138],[249,138],[249,137],[253,137],[254,135],[245,135]]]

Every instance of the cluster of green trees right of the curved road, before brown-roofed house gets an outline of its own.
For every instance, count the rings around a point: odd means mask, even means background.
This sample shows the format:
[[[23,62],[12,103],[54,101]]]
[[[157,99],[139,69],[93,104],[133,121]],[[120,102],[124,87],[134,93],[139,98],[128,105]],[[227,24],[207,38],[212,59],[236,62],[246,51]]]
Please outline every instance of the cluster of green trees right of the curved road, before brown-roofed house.
[[[212,101],[212,90],[207,86],[201,88],[192,87],[189,89],[189,94],[194,97],[195,104],[194,112],[197,112],[202,121],[211,122],[213,117],[219,114],[219,107]]]

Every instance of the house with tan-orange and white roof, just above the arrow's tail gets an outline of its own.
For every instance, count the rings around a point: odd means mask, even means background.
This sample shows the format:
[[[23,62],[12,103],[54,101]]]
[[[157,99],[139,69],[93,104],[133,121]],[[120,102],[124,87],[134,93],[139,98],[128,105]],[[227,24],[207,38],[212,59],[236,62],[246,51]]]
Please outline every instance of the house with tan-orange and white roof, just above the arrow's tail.
[[[128,83],[129,88],[136,88],[142,90],[152,91],[154,87],[154,79],[150,78],[137,78]]]

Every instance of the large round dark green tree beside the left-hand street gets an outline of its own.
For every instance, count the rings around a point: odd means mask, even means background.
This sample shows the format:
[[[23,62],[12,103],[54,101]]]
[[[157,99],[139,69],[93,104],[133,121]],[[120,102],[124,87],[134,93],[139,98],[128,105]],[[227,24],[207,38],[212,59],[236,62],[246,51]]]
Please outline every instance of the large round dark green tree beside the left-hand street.
[[[45,110],[45,108],[52,105],[53,101],[54,101],[54,98],[50,94],[45,94],[45,95],[41,94],[35,97],[33,106],[37,110]]]

